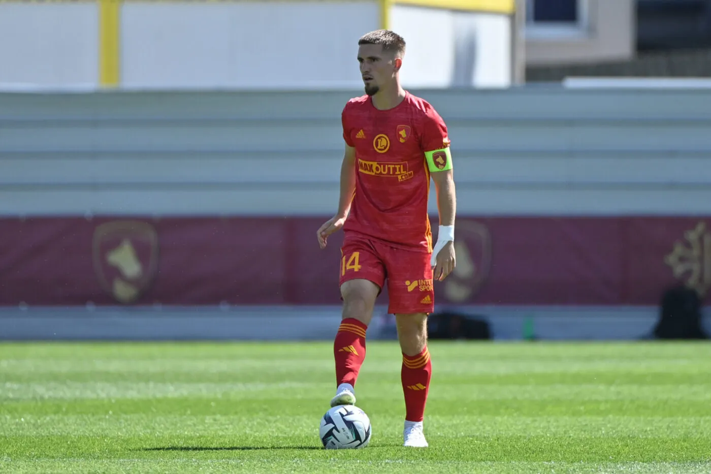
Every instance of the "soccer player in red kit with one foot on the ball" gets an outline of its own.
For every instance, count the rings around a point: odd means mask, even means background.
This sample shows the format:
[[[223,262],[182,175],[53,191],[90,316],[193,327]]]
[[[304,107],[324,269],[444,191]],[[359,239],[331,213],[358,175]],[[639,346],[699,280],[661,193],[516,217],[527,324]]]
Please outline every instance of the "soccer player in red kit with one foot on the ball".
[[[355,381],[365,359],[365,332],[387,280],[402,350],[404,446],[427,447],[422,421],[432,362],[427,315],[432,280],[454,269],[454,214],[447,126],[432,105],[400,85],[405,41],[387,30],[358,41],[365,95],[343,108],[346,152],[338,212],[317,231],[321,248],[343,228],[339,268],[343,315],[333,344],[336,396],[331,406],[355,404]],[[427,216],[430,177],[437,189],[439,233],[432,248]]]

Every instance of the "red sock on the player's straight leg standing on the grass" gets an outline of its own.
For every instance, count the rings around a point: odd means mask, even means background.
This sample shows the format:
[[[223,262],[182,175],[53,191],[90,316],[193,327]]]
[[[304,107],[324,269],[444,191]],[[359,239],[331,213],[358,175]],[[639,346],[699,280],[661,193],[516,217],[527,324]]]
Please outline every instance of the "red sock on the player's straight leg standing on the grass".
[[[416,356],[402,354],[402,391],[405,392],[405,420],[422,421],[424,405],[427,404],[429,378],[432,376],[432,362],[427,346]]]

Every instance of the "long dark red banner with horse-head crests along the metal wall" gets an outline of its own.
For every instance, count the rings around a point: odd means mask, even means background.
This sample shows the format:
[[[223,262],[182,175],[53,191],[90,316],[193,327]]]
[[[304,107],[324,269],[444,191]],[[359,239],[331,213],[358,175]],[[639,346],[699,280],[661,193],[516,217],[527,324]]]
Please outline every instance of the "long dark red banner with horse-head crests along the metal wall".
[[[0,219],[0,305],[337,305],[342,236],[319,249],[325,218]],[[711,288],[711,218],[461,217],[456,250],[437,302],[656,305],[670,285]]]

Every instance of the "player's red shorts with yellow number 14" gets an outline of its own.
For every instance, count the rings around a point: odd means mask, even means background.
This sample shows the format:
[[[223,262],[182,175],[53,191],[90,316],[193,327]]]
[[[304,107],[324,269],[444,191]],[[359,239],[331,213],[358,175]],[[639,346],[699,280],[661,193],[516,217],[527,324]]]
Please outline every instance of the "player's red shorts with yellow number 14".
[[[363,278],[383,289],[387,279],[392,314],[431,313],[434,310],[430,254],[395,248],[368,238],[346,234],[341,247],[338,285]]]

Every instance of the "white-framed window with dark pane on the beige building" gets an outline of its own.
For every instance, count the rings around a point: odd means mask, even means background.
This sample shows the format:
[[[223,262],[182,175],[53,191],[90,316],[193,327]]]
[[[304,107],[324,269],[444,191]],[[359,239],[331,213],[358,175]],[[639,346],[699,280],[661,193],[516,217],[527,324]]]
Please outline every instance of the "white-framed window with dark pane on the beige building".
[[[526,0],[526,36],[587,36],[587,0]]]

